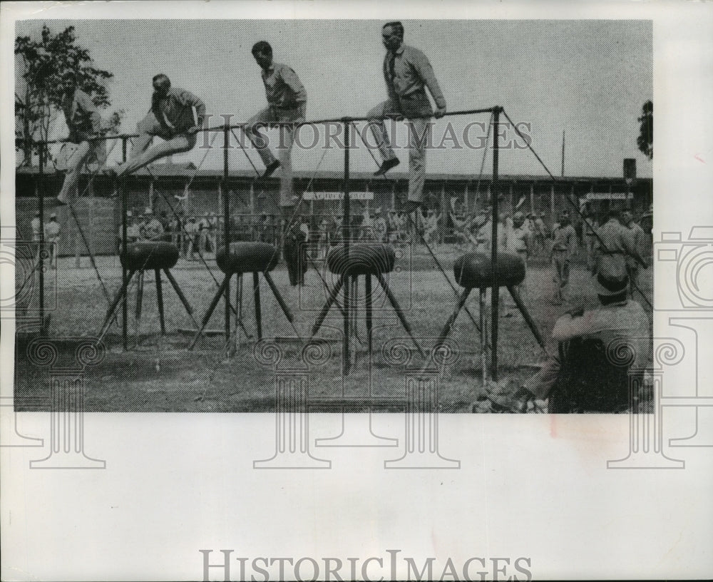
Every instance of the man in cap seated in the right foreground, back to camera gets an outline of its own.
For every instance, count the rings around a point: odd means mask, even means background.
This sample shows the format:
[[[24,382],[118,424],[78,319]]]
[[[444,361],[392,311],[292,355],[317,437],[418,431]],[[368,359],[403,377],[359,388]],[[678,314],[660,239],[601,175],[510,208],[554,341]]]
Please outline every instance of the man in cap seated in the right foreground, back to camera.
[[[623,342],[634,355],[630,369],[644,369],[649,358],[649,318],[638,302],[627,298],[629,277],[625,268],[607,267],[597,274],[595,285],[600,305],[588,311],[578,307],[560,317],[552,330],[552,338],[555,342],[578,337],[597,338],[607,350]],[[515,395],[512,412],[525,412],[528,399],[548,398],[561,366],[558,356],[550,356],[540,372],[525,382]]]

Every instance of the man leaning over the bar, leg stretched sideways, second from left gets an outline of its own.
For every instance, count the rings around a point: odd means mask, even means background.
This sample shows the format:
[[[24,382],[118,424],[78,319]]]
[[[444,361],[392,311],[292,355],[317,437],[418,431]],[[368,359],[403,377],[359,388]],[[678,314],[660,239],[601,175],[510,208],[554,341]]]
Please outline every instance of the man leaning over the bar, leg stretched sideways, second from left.
[[[130,158],[116,166],[116,175],[128,175],[145,165],[174,153],[192,150],[196,133],[203,128],[205,104],[200,98],[179,87],[171,86],[163,73],[153,77],[151,108],[136,126]],[[163,139],[150,146],[154,136]]]

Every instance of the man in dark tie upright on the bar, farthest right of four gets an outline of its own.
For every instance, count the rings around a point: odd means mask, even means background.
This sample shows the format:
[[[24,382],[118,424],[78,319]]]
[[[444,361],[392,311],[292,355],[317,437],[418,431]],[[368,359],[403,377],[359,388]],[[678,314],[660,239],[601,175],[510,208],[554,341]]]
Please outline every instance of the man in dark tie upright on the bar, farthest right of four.
[[[384,24],[381,37],[386,47],[384,81],[389,99],[366,114],[371,119],[369,126],[383,160],[374,175],[384,174],[399,164],[381,118],[406,118],[409,127],[409,197],[404,212],[411,213],[419,208],[424,198],[429,118],[441,118],[446,114],[446,100],[429,59],[418,48],[404,44],[401,22]],[[431,108],[426,87],[436,103],[436,111]]]

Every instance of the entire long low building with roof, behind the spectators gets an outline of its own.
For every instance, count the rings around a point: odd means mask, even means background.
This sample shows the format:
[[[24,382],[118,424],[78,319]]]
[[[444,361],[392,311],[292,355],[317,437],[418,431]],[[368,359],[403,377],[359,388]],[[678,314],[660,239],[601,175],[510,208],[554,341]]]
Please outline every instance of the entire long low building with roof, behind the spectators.
[[[38,207],[39,171],[37,168],[16,170],[16,227],[19,238],[29,240],[30,220]],[[56,206],[55,197],[63,174],[43,175],[43,197],[46,217],[58,215],[63,226],[59,243],[60,255],[86,254],[83,242],[65,206]],[[392,172],[386,178],[375,178],[371,173],[354,172],[349,175],[349,190],[354,193],[352,213],[364,210],[386,212],[400,210],[408,192],[408,174]],[[142,213],[145,208],[161,216],[173,213],[222,216],[224,196],[229,197],[231,218],[237,215],[260,217],[277,215],[276,205],[279,179],[255,180],[255,174],[233,170],[224,179],[216,170],[198,170],[192,163],[155,164],[150,171],[143,169],[128,176],[128,208]],[[344,176],[337,171],[310,173],[294,172],[294,192],[303,195],[303,214],[315,217],[342,213],[339,196],[344,187]],[[95,254],[116,252],[116,236],[121,224],[121,204],[116,180],[108,175],[96,175],[80,181],[83,193],[75,204],[84,234]],[[631,208],[635,215],[647,213],[652,204],[652,179],[604,178],[597,176],[565,176],[554,180],[543,175],[500,175],[498,191],[501,209],[544,214],[547,224],[563,210],[570,210],[574,223],[578,216],[572,212],[568,200],[578,205],[585,202],[596,213],[605,213],[610,206]],[[424,205],[437,212],[460,215],[481,213],[491,199],[491,175],[428,174],[424,187]]]

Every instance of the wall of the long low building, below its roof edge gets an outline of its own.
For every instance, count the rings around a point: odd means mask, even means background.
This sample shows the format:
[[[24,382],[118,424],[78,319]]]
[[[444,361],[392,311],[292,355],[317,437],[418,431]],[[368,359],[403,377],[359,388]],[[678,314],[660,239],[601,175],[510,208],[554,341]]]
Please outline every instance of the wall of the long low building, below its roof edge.
[[[186,216],[202,216],[215,213],[222,216],[222,202],[225,193],[229,195],[230,213],[235,215],[261,214],[279,215],[275,204],[279,188],[279,180],[269,180],[267,183],[245,177],[231,177],[227,188],[222,185],[222,178],[217,175],[198,176],[191,183],[188,195],[185,186],[188,176],[161,176],[152,180],[148,176],[135,175],[127,180],[128,210],[133,213],[143,214],[145,208],[153,208],[154,213],[160,216],[165,213],[170,219],[173,212],[183,213]],[[54,207],[53,198],[61,188],[61,175],[46,175],[43,179],[45,185],[46,220],[54,210],[58,214],[63,232],[60,241],[61,255],[73,255],[78,250],[86,254],[81,238],[78,237],[76,225],[66,207]],[[16,221],[22,235],[31,236],[30,220],[37,208],[36,176],[31,173],[16,173]],[[86,177],[81,182],[81,190],[93,193],[93,196],[79,198],[76,203],[76,213],[83,225],[83,230],[88,238],[90,248],[96,254],[110,254],[115,252],[116,236],[121,222],[120,195],[116,184],[108,176],[99,175],[93,180],[91,188],[88,187]],[[317,177],[314,180],[298,178],[295,180],[295,193],[310,190],[322,192],[340,192],[343,188],[341,178]],[[499,183],[499,191],[503,196],[501,212],[513,213],[515,209],[528,213],[545,213],[545,222],[553,223],[553,218],[562,210],[569,210],[573,215],[575,224],[578,217],[566,201],[569,196],[575,200],[585,198],[587,193],[607,193],[625,191],[623,180],[612,178],[568,179],[562,178],[556,183],[551,180],[527,180],[522,178],[503,177]],[[611,205],[622,208],[630,205],[635,215],[644,213],[652,202],[652,183],[650,180],[638,180],[633,188],[634,198],[629,203],[620,201],[610,202],[599,200],[593,204],[597,213],[605,213]],[[398,210],[404,203],[408,182],[405,179],[373,179],[356,178],[350,180],[349,189],[352,192],[371,191],[374,200],[352,202],[352,215],[361,214],[369,210],[386,211],[396,206]],[[430,179],[426,180],[424,200],[429,208],[448,208],[451,198],[456,198],[458,208],[467,209],[469,213],[483,210],[490,201],[491,184],[489,180],[477,183],[473,180],[463,179]],[[520,205],[518,206],[518,203]],[[302,205],[304,215],[338,215],[342,213],[342,202],[314,201]],[[25,233],[27,233],[25,235]]]

